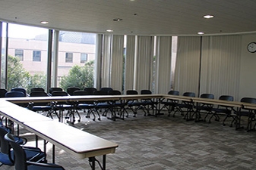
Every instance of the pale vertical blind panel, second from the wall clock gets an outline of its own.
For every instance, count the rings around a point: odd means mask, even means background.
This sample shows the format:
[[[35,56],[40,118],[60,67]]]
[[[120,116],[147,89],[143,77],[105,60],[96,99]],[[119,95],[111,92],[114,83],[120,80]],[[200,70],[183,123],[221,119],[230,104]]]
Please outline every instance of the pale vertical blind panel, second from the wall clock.
[[[201,37],[179,37],[174,87],[180,94],[198,94],[201,56]]]

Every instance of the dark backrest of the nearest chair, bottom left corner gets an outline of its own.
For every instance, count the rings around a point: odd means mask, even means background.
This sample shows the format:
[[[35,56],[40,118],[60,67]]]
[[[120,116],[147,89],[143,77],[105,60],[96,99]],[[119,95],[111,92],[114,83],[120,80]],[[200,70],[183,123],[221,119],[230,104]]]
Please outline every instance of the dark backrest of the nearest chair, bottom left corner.
[[[11,145],[11,147],[14,150],[14,166],[15,170],[27,170],[27,164],[26,164],[26,153],[22,149],[22,147],[17,144],[14,141],[14,137],[12,134],[8,133],[5,134],[5,141],[8,141],[8,143]]]

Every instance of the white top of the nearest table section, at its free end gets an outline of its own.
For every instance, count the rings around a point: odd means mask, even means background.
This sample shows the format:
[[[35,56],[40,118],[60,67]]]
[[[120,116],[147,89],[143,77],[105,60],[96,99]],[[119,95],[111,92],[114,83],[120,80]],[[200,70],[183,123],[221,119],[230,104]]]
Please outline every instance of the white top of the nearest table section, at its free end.
[[[83,159],[115,153],[118,144],[61,122],[24,122],[25,128],[55,146]]]

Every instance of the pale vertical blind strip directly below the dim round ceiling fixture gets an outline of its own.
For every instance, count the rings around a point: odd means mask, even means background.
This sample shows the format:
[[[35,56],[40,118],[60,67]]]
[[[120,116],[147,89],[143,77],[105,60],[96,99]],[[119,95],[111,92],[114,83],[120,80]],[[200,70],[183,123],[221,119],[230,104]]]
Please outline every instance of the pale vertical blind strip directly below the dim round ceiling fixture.
[[[124,72],[124,36],[112,36],[112,52],[110,67],[110,86],[115,90],[122,91]]]

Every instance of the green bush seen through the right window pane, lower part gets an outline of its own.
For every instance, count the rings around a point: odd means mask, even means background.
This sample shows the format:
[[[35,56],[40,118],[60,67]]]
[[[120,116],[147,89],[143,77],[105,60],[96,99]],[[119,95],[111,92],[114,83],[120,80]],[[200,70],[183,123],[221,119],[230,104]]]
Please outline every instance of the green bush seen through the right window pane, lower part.
[[[62,77],[60,87],[64,90],[68,87],[93,87],[93,61],[85,63],[84,66],[73,66],[68,76]]]

